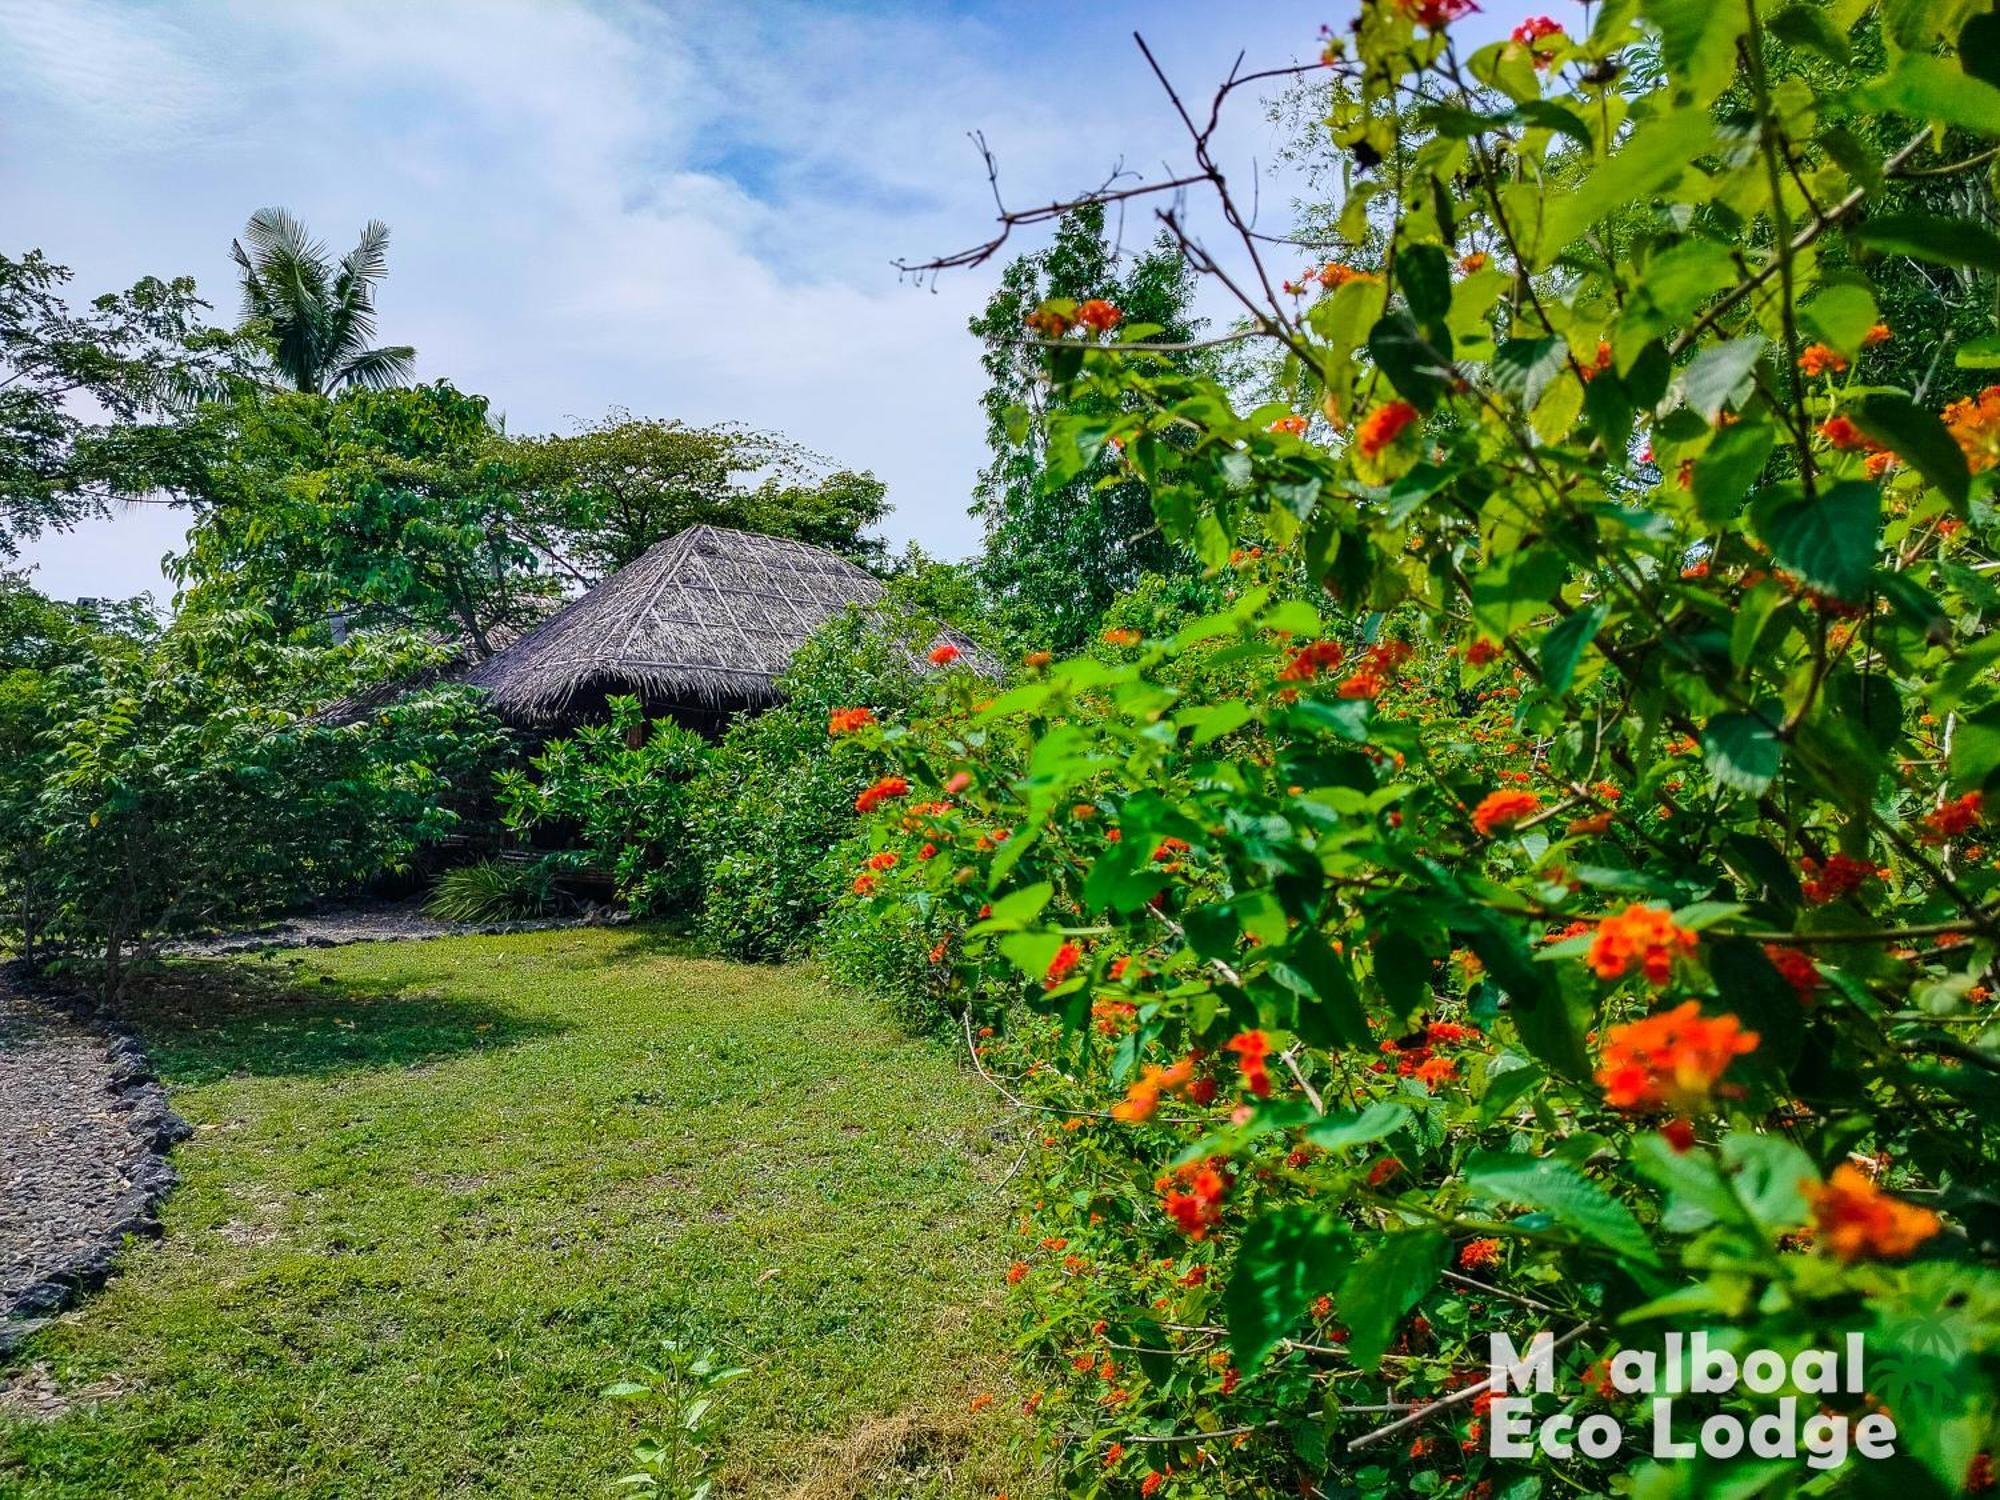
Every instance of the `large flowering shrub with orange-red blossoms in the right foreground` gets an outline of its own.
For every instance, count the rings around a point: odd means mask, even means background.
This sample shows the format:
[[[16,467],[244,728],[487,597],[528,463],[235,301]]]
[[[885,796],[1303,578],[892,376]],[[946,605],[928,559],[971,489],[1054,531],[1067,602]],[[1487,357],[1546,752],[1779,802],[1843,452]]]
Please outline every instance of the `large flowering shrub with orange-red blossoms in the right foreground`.
[[[1606,6],[1466,56],[1468,8],[1328,48],[1378,254],[1230,282],[1304,430],[1036,322],[1118,414],[1052,482],[1116,446],[1232,598],[840,740],[850,796],[908,784],[856,900],[938,932],[1038,1122],[1030,1408],[1080,1494],[1978,1486],[2000,396],[1892,388],[1926,330],[1878,312],[1912,258],[1990,308],[2000,238],[1898,184],[1986,168],[1992,18]],[[1806,1408],[1900,1456],[1492,1456],[1490,1332],[1560,1334],[1548,1414],[1690,1326],[1862,1334],[1878,1384]]]

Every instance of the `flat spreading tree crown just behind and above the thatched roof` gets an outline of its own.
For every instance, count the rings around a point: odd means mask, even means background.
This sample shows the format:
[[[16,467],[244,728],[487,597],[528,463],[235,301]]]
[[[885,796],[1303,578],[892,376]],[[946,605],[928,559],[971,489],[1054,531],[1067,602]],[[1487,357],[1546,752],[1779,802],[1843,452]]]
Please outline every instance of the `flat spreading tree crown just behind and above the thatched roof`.
[[[768,432],[612,412],[572,434],[510,440],[506,458],[528,526],[592,582],[700,524],[794,536],[856,560],[882,550],[862,536],[888,514],[882,482]]]

